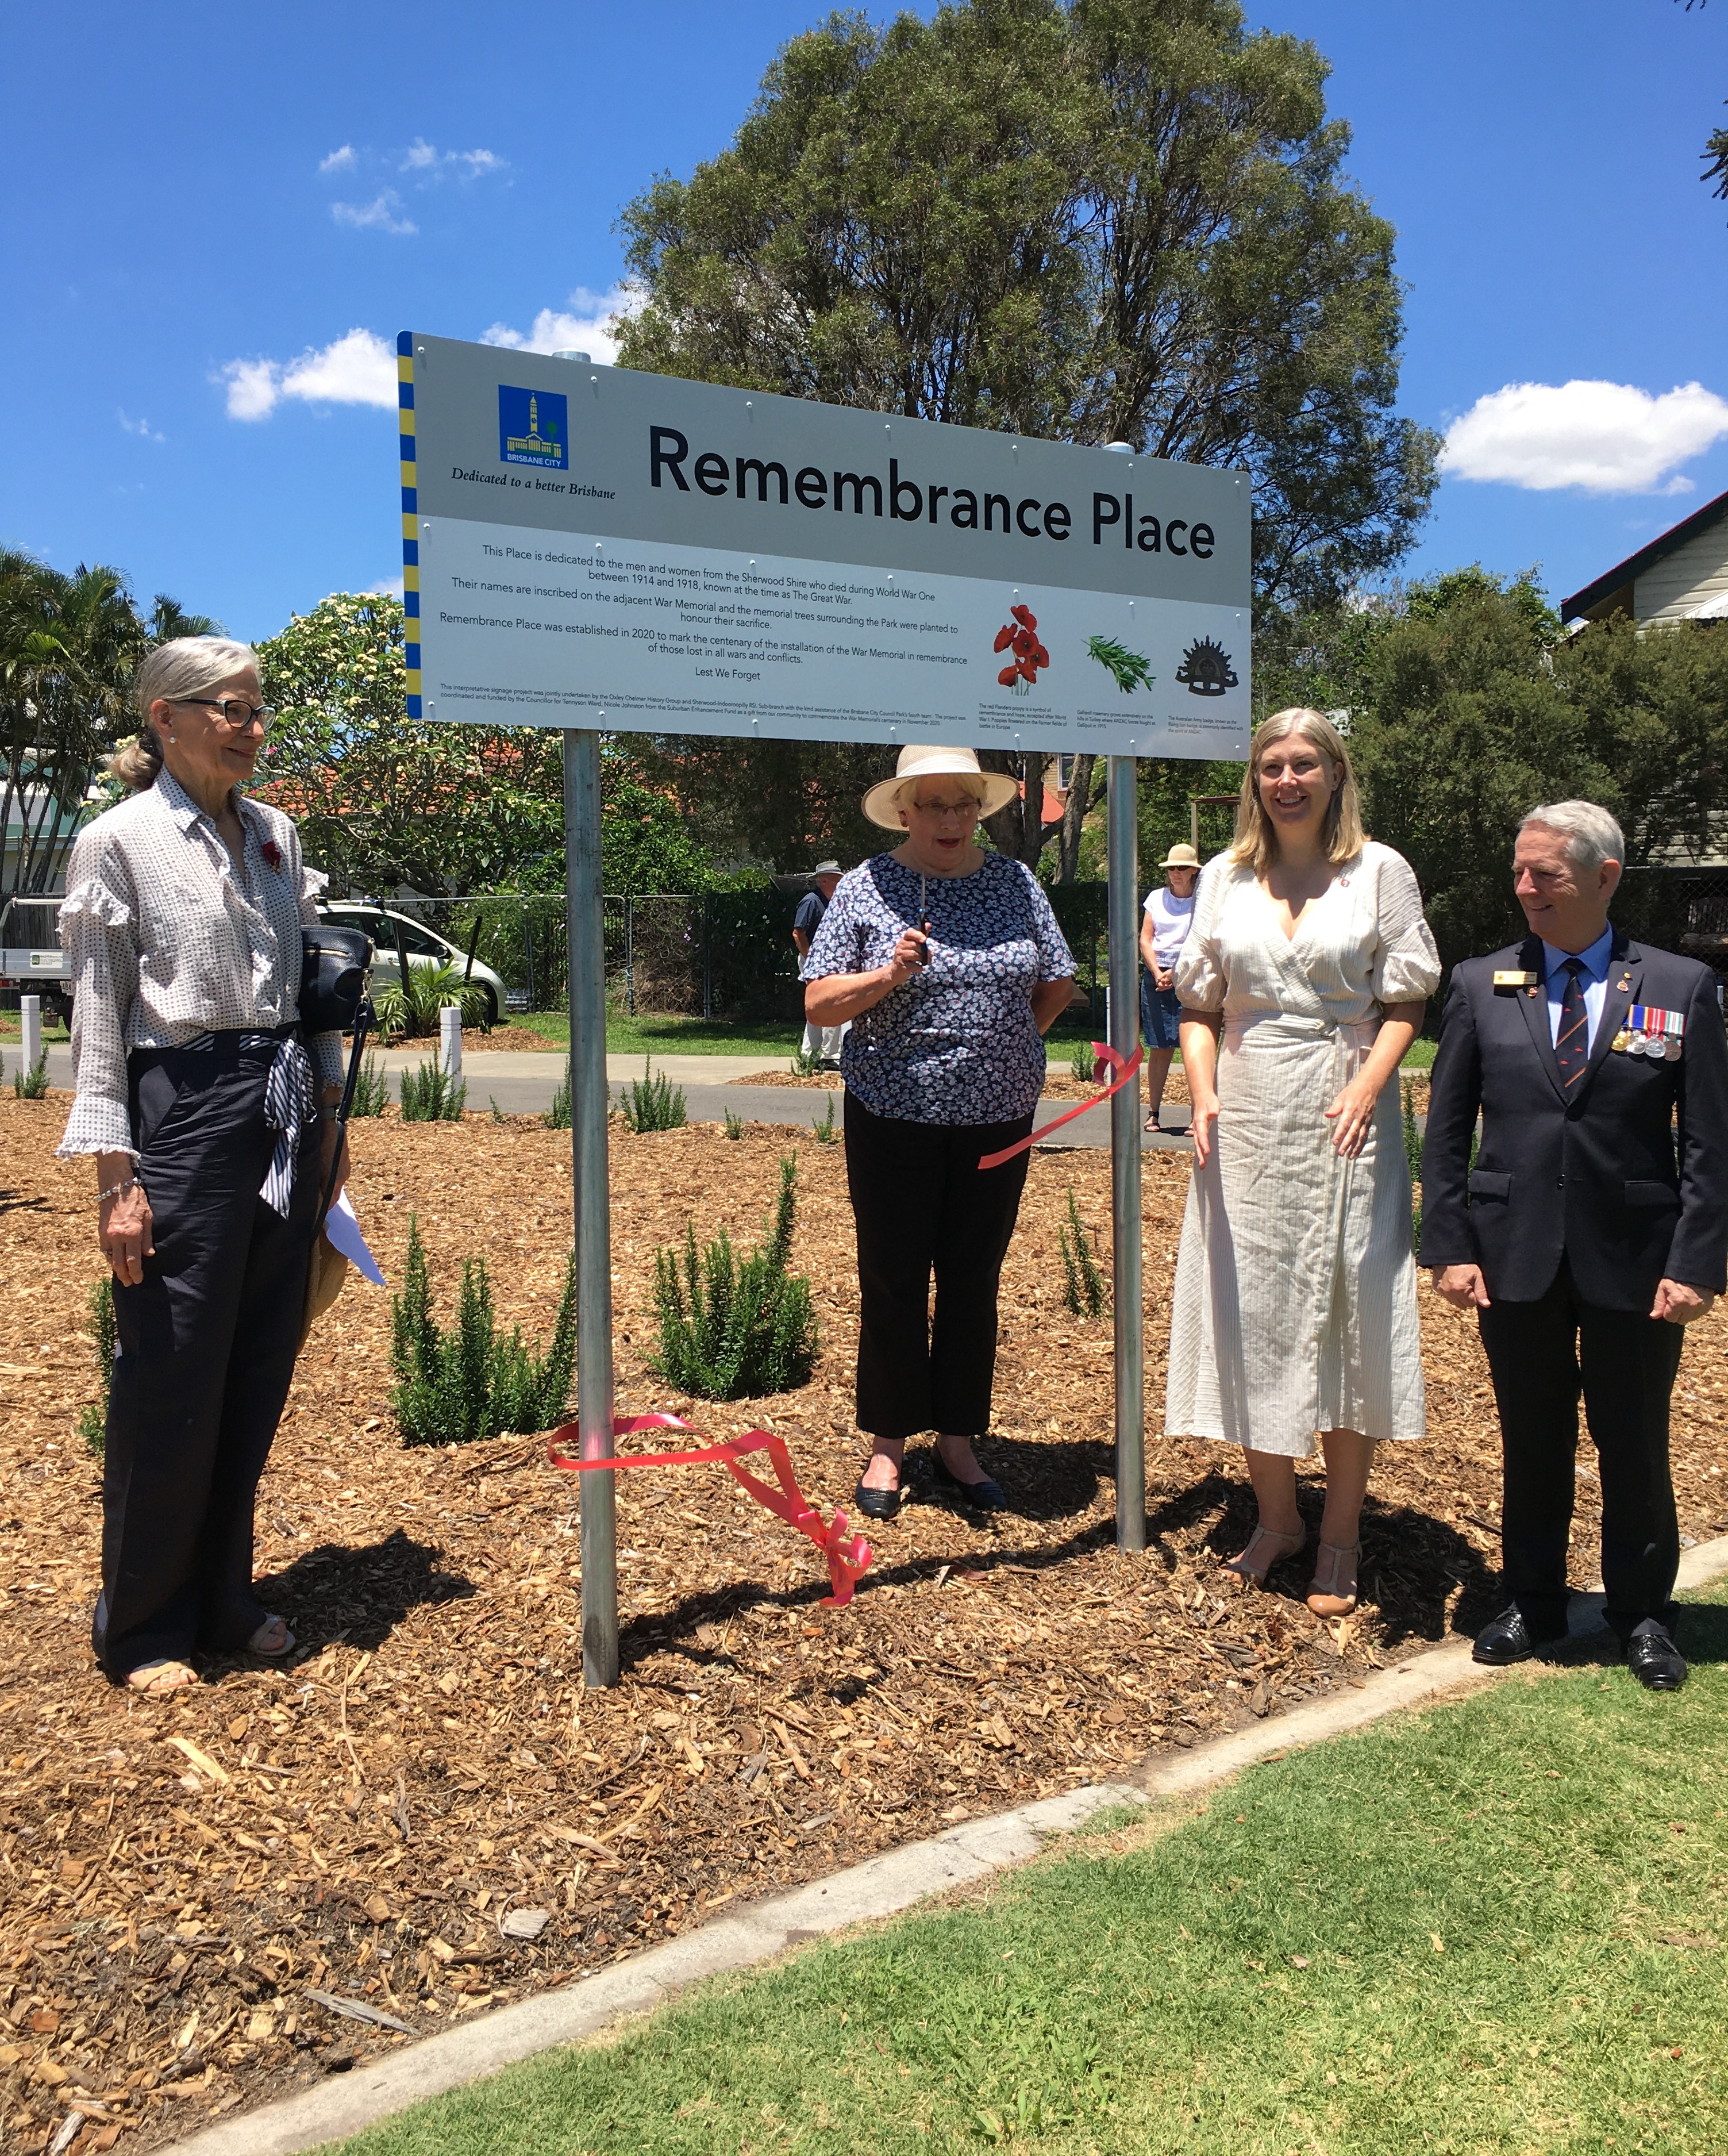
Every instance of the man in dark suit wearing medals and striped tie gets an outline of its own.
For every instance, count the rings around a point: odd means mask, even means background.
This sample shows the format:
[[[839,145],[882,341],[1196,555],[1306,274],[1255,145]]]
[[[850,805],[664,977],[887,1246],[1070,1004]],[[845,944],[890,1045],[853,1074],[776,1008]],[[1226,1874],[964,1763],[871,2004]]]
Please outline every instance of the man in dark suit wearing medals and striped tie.
[[[1474,1309],[1504,1442],[1510,1606],[1478,1662],[1566,1630],[1577,1399],[1603,1492],[1607,1621],[1650,1690],[1685,1682],[1668,1397],[1728,1261],[1728,1039],[1715,975],[1607,921],[1620,826],[1532,808],[1521,944],[1452,972],[1422,1149],[1422,1263]],[[1482,1149],[1472,1162],[1476,1117]]]

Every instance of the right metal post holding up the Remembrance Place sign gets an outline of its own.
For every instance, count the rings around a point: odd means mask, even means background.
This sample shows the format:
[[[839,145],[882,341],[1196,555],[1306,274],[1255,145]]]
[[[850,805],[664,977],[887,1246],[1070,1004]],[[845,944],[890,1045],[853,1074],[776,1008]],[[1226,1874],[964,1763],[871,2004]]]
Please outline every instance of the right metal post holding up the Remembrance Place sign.
[[[1140,1037],[1140,800],[1135,759],[1110,759],[1110,1046]],[[1110,1235],[1116,1315],[1116,1548],[1146,1548],[1146,1322],[1140,1268],[1140,1080],[1110,1102]]]

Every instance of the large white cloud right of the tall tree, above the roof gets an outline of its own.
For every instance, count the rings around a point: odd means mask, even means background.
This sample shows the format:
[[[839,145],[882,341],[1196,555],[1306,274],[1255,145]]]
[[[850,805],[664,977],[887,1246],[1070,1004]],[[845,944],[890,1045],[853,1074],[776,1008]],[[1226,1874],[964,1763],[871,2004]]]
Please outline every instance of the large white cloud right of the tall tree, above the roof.
[[[1728,436],[1728,401],[1687,382],[1650,397],[1622,382],[1508,382],[1446,429],[1452,479],[1584,494],[1689,494],[1674,470]]]

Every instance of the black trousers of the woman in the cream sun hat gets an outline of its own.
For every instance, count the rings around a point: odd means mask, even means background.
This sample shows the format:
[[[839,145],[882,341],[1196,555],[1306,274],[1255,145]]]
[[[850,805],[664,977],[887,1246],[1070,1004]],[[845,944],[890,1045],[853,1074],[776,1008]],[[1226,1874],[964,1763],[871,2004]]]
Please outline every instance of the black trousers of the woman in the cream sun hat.
[[[858,1427],[978,1438],[995,1378],[995,1291],[1026,1188],[1028,1153],[978,1173],[1023,1138],[1013,1123],[907,1123],[847,1093],[847,1188],[858,1222]],[[935,1274],[935,1315],[931,1315]]]

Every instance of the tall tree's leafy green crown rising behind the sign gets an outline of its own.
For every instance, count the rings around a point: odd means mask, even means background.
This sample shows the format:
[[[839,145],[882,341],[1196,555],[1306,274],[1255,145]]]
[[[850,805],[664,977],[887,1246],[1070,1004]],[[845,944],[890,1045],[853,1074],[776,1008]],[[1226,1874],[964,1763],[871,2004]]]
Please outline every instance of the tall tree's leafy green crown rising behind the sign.
[[[1232,0],[830,15],[625,209],[621,358],[1243,466],[1263,599],[1336,597],[1409,545],[1437,442],[1325,73]]]

